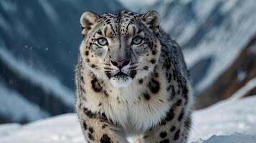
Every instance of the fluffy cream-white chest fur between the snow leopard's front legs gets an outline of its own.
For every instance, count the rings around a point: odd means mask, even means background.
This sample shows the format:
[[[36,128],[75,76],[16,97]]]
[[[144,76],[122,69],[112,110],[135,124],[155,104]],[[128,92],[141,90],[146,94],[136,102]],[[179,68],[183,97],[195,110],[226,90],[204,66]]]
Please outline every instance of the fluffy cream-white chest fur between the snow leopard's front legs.
[[[159,124],[170,108],[169,96],[163,88],[158,94],[145,94],[145,89],[131,88],[117,95],[110,95],[115,98],[108,100],[104,109],[107,117],[120,124],[127,134],[143,132]]]

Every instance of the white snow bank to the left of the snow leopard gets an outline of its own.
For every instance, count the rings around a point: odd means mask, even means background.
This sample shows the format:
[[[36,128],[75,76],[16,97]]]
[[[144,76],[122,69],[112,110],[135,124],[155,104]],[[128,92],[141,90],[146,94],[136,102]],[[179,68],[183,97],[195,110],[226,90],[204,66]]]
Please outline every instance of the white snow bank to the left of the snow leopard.
[[[6,125],[4,125],[6,128]],[[0,126],[0,134],[1,134]],[[63,114],[41,119],[19,127],[19,131],[0,137],[1,143],[75,143],[85,142],[75,114]]]

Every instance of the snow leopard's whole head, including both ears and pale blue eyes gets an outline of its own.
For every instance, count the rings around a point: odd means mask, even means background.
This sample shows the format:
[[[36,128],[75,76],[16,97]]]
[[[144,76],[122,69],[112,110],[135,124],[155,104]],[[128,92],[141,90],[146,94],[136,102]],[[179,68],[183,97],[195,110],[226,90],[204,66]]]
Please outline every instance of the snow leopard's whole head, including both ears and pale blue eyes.
[[[142,79],[153,71],[161,51],[156,37],[159,21],[155,11],[102,16],[85,12],[81,17],[82,59],[96,77],[109,80],[115,87]]]

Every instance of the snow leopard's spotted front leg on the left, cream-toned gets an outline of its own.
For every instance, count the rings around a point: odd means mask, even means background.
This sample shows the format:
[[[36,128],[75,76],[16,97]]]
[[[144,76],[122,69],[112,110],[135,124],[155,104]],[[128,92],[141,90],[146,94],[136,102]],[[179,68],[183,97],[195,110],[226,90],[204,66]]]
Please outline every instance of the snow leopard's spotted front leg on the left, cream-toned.
[[[82,111],[83,110],[83,111]],[[121,129],[103,115],[88,109],[78,110],[82,133],[88,143],[128,143]]]

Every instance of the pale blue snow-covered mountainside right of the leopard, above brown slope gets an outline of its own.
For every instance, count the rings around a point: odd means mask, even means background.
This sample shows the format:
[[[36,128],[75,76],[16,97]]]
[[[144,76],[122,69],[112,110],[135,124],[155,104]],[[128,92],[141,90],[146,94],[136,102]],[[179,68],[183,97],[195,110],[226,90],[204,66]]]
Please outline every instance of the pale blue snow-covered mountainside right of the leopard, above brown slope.
[[[162,28],[183,48],[196,93],[229,68],[256,35],[255,0],[158,0],[134,10],[161,15]]]

